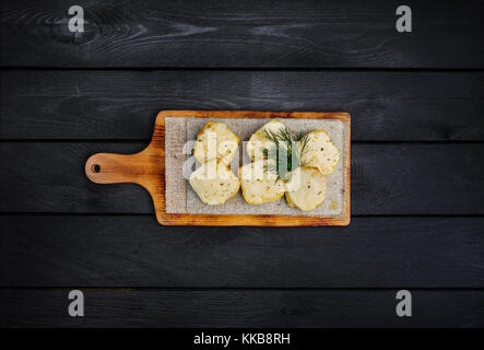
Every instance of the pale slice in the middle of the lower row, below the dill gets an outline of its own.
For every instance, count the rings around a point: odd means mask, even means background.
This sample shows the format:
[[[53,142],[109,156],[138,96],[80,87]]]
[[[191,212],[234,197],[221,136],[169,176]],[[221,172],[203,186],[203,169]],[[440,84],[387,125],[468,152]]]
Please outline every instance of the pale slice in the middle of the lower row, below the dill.
[[[262,205],[280,199],[284,195],[284,183],[269,171],[263,161],[248,163],[238,170],[244,199],[250,205]]]

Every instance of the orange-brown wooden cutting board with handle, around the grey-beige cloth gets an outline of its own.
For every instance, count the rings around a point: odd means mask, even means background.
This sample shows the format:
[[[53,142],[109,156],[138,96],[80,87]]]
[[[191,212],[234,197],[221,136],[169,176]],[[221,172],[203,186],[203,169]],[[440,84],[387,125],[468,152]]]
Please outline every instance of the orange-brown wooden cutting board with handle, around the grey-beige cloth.
[[[190,214],[167,213],[165,196],[165,117],[193,118],[302,118],[340,119],[347,130],[342,161],[345,172],[344,206],[342,214],[333,218],[281,214]],[[86,176],[96,184],[133,183],[144,187],[153,199],[156,219],[162,225],[252,225],[307,226],[347,225],[350,211],[350,130],[351,118],[343,112],[253,112],[253,110],[162,110],[155,121],[150,144],[139,153],[97,153],[85,163]]]

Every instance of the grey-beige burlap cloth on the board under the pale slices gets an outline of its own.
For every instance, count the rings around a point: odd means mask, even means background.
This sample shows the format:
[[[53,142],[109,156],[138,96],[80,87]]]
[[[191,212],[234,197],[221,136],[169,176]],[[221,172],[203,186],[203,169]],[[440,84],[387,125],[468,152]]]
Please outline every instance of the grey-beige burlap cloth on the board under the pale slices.
[[[293,133],[308,132],[316,129],[324,129],[342,155],[334,172],[327,177],[328,192],[324,202],[312,211],[302,211],[287,206],[284,197],[272,202],[253,206],[245,201],[239,191],[223,206],[206,206],[191,189],[188,180],[184,177],[189,175],[191,148],[187,141],[194,141],[197,133],[209,120],[225,122],[232,131],[240,139],[239,153],[235,156],[231,168],[237,175],[238,166],[249,162],[247,151],[243,147],[243,141],[247,141],[250,136],[270,119],[248,119],[248,118],[165,118],[165,182],[166,182],[166,212],[167,213],[192,213],[192,214],[283,214],[283,215],[308,215],[321,218],[338,218],[342,215],[344,208],[346,172],[343,171],[345,164],[346,142],[349,130],[345,124],[339,119],[280,119]],[[192,143],[192,142],[191,142]],[[185,145],[185,150],[184,150]],[[185,151],[185,152],[184,152]],[[185,153],[185,154],[184,154]],[[188,162],[187,162],[188,160]],[[198,166],[198,164],[197,164]],[[194,165],[192,166],[194,168]]]

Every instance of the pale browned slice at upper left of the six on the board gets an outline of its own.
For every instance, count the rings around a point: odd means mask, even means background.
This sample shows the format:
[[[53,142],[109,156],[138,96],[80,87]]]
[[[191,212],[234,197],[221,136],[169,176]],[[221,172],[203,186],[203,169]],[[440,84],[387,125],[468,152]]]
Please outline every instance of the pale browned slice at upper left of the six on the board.
[[[238,137],[224,122],[209,121],[197,136],[193,156],[200,163],[219,159],[231,164],[238,142]]]

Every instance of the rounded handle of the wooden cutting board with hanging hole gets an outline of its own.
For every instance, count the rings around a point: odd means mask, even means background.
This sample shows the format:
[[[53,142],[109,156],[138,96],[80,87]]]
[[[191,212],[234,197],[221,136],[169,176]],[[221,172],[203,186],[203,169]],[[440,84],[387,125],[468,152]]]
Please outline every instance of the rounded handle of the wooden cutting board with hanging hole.
[[[96,184],[134,183],[143,186],[143,151],[134,154],[96,153],[85,162],[86,176]]]

